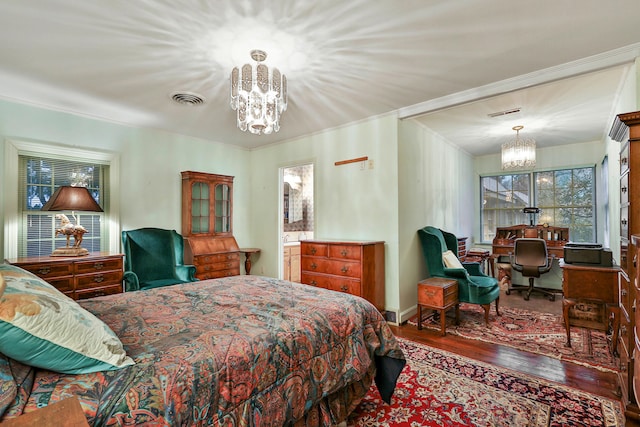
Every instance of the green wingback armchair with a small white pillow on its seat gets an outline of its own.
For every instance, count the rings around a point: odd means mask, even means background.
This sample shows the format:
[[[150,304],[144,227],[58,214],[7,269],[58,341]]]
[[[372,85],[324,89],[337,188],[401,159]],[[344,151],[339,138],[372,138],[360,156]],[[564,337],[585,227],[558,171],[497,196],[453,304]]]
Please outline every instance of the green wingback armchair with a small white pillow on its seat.
[[[457,258],[458,239],[455,235],[435,227],[427,226],[418,230],[424,261],[429,277],[444,277],[458,281],[458,299],[460,302],[480,304],[484,308],[484,320],[489,324],[490,304],[496,302],[496,314],[499,316],[500,286],[498,280],[487,276],[480,270],[477,262],[460,263]],[[453,264],[458,268],[445,265],[443,254],[451,251],[455,258]],[[451,257],[451,254],[447,254]],[[451,264],[450,264],[451,265]]]

